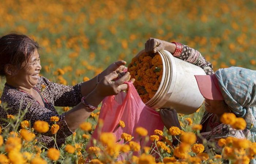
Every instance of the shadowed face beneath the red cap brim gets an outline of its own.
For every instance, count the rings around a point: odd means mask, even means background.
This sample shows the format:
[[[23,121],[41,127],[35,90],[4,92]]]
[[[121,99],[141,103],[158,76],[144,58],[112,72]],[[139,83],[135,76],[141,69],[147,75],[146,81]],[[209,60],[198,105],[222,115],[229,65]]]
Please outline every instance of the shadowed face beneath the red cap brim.
[[[229,112],[229,108],[225,106],[223,100],[204,100],[204,108],[209,113],[214,113],[221,116],[225,112]]]

